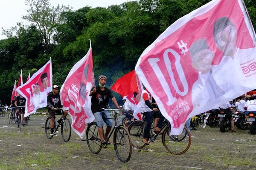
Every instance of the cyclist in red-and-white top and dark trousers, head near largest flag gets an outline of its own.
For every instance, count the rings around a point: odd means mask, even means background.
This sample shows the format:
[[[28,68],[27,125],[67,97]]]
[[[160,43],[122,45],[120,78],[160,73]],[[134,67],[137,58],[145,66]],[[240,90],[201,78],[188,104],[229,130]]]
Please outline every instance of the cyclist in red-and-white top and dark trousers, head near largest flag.
[[[150,127],[152,124],[152,118],[159,116],[159,120],[157,122],[157,127],[155,127],[154,132],[157,133],[160,131],[160,127],[163,124],[164,118],[161,112],[152,106],[152,97],[151,94],[148,92],[147,89],[145,89],[140,97],[140,108],[142,110],[142,113],[145,117],[146,125],[143,133],[143,139],[142,142],[145,144],[149,144],[148,142],[148,136],[150,136]]]

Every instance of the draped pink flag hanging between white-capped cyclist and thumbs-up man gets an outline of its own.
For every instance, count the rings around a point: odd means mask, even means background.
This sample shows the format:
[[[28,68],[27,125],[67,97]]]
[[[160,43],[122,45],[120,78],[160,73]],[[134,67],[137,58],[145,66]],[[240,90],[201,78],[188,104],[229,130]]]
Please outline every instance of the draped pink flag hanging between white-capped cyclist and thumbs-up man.
[[[95,85],[93,74],[93,53],[87,54],[70,70],[64,84],[61,86],[61,104],[68,110],[72,119],[73,130],[82,138],[86,123],[93,122],[91,111],[90,90]]]

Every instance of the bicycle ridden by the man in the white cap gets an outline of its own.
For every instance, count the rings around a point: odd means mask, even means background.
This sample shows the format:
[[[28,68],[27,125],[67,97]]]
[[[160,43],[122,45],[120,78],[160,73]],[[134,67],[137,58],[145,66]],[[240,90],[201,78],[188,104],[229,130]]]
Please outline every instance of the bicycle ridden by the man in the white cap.
[[[63,109],[62,108],[55,108],[56,110],[61,111],[61,122],[56,124],[56,120],[54,119],[54,132],[58,133],[58,128],[61,127],[61,136],[64,142],[68,142],[71,137],[71,124],[70,120],[67,119],[67,117],[63,117]],[[52,139],[54,135],[50,135],[51,133],[51,126],[50,126],[51,118],[47,117],[45,121],[45,126],[42,128],[45,128],[45,135],[48,139]]]

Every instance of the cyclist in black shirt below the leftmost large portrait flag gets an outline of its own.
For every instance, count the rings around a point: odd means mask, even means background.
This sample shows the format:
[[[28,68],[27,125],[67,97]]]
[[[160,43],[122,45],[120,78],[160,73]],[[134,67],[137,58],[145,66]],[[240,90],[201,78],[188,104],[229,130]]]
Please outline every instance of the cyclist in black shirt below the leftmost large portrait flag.
[[[16,119],[15,119],[15,123],[18,122],[18,116],[19,113],[21,111],[21,119],[22,119],[22,125],[26,125],[26,117],[24,117],[24,113],[25,113],[25,107],[19,107],[19,106],[25,106],[26,105],[26,99],[23,96],[17,96],[15,99],[15,103],[14,103],[15,107],[16,107]]]

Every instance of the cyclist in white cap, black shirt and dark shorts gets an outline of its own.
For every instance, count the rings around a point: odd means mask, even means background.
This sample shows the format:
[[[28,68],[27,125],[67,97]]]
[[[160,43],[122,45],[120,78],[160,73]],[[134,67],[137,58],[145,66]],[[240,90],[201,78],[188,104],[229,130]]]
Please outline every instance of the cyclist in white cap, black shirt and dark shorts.
[[[61,105],[61,99],[60,94],[58,94],[59,87],[58,85],[53,85],[52,92],[50,92],[47,96],[47,108],[49,117],[51,118],[50,126],[51,126],[51,133],[50,135],[54,135],[54,119],[55,119],[55,113],[60,114],[60,110],[54,110],[55,108],[62,108]],[[63,117],[67,116],[67,110],[64,111]],[[57,121],[58,123],[61,123],[61,119]]]

